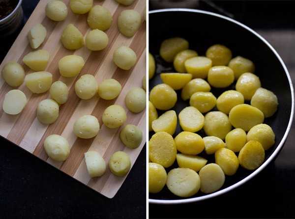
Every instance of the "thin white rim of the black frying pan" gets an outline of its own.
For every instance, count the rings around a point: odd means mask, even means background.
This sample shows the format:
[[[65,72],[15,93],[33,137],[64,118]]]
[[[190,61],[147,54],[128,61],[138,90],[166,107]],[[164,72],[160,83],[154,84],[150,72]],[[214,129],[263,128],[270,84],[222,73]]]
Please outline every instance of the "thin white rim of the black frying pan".
[[[266,41],[265,38],[263,38],[260,34],[258,34],[256,31],[254,31],[253,29],[251,29],[250,27],[247,27],[246,25],[243,25],[242,23],[220,15],[220,14],[216,14],[213,12],[209,12],[209,11],[204,11],[204,10],[199,10],[199,9],[188,9],[188,8],[169,8],[169,9],[157,9],[157,10],[151,10],[148,13],[152,14],[152,13],[159,13],[159,12],[169,12],[169,11],[182,11],[182,12],[196,12],[196,13],[200,13],[200,14],[207,14],[207,15],[211,15],[211,16],[215,16],[215,17],[219,17],[225,20],[228,20],[230,22],[235,23],[236,25],[243,27],[245,29],[247,29],[248,31],[252,32],[254,35],[256,35],[258,38],[260,38],[268,47],[269,49],[271,49],[271,51],[276,55],[276,57],[278,58],[278,60],[280,61],[282,67],[284,68],[284,71],[287,75],[288,81],[289,81],[289,86],[290,86],[290,90],[291,90],[291,99],[292,99],[292,106],[291,106],[291,115],[290,115],[290,120],[287,126],[287,130],[281,140],[281,142],[279,143],[279,145],[277,146],[277,148],[273,151],[273,153],[269,156],[269,158],[260,166],[258,167],[254,172],[252,172],[250,175],[248,175],[247,177],[245,177],[244,179],[240,180],[239,182],[235,183],[232,186],[229,186],[225,189],[219,190],[217,192],[213,192],[210,194],[206,194],[203,196],[199,196],[199,197],[193,197],[193,198],[186,198],[186,199],[173,199],[173,200],[164,200],[164,199],[148,199],[148,202],[151,204],[184,204],[184,203],[191,203],[191,202],[197,202],[197,201],[202,201],[202,200],[206,200],[209,198],[213,198],[216,197],[218,195],[224,194],[226,192],[229,192],[231,190],[236,189],[237,187],[241,186],[242,184],[244,184],[245,182],[249,181],[250,179],[252,179],[253,177],[255,177],[258,173],[260,173],[275,157],[276,155],[280,152],[281,148],[283,147],[288,134],[290,132],[291,129],[291,125],[292,125],[292,121],[293,121],[293,117],[294,117],[294,87],[293,87],[293,83],[291,80],[291,76],[288,72],[288,69],[285,65],[285,63],[283,62],[282,58],[280,57],[280,55],[275,51],[275,49]]]

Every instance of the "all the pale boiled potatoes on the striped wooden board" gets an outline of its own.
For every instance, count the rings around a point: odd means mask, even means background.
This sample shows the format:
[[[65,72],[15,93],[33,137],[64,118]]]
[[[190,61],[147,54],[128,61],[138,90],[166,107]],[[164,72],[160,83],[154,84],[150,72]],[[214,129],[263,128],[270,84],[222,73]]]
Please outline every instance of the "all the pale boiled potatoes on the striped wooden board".
[[[115,0],[114,0],[115,1]],[[118,4],[130,5],[134,0],[116,0]],[[108,8],[93,5],[93,0],[70,0],[69,8],[74,14],[86,14],[89,31],[85,39],[80,30],[73,24],[68,24],[60,35],[60,43],[67,50],[78,50],[86,46],[90,51],[100,51],[107,48],[109,37],[104,32],[113,24],[113,16]],[[64,21],[69,13],[68,6],[60,0],[51,0],[44,8],[46,16],[54,21]],[[144,14],[144,19],[146,15]],[[125,37],[132,37],[141,27],[142,17],[134,9],[123,10],[118,17],[119,32]],[[32,71],[25,74],[24,67],[11,61],[4,65],[2,76],[5,82],[13,87],[6,95],[3,110],[8,114],[19,114],[27,105],[27,97],[18,86],[23,83],[32,93],[49,92],[50,97],[42,100],[36,109],[36,117],[45,125],[53,124],[59,118],[59,107],[66,104],[69,98],[69,89],[66,83],[53,82],[52,73],[46,71],[50,61],[50,53],[40,49],[46,43],[47,29],[42,24],[34,24],[27,34],[32,49],[23,57],[23,63]],[[123,70],[131,69],[137,62],[137,55],[128,46],[118,47],[113,54],[113,61]],[[80,55],[65,55],[58,62],[59,74],[64,78],[78,77],[75,82],[75,94],[78,98],[88,100],[95,95],[105,100],[113,100],[121,92],[121,84],[115,79],[105,79],[98,82],[92,74],[79,76],[85,66],[85,60]],[[146,85],[143,79],[143,88],[130,88],[125,96],[128,110],[139,113],[146,108]],[[122,106],[111,105],[105,109],[102,121],[110,129],[119,128],[127,121],[127,113]],[[83,115],[76,120],[73,133],[80,138],[95,137],[100,130],[98,119],[93,115]],[[143,140],[140,128],[133,124],[125,125],[120,131],[121,142],[129,148],[137,148]],[[44,141],[47,155],[55,161],[65,161],[70,154],[70,145],[60,135],[50,135]],[[97,151],[85,153],[85,161],[90,177],[101,176],[106,170],[106,162]],[[130,170],[129,155],[123,151],[114,153],[109,160],[109,168],[115,175],[124,176]]]

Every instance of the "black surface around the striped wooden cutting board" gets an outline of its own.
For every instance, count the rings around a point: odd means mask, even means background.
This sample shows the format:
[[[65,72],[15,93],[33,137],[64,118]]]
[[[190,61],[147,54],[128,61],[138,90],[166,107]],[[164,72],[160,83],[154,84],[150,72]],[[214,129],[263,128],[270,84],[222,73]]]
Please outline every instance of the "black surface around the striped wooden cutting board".
[[[24,23],[38,2],[23,0]],[[19,31],[1,39],[0,62]],[[146,218],[145,170],[146,146],[109,199],[0,137],[0,219]]]

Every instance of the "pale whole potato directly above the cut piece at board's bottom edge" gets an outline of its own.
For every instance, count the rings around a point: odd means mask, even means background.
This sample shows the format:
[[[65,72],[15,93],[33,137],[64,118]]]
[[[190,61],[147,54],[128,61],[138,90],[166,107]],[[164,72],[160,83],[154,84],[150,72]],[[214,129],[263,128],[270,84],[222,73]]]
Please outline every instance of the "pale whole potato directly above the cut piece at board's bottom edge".
[[[98,119],[93,115],[83,115],[78,118],[73,127],[74,134],[81,138],[95,137],[100,130]]]

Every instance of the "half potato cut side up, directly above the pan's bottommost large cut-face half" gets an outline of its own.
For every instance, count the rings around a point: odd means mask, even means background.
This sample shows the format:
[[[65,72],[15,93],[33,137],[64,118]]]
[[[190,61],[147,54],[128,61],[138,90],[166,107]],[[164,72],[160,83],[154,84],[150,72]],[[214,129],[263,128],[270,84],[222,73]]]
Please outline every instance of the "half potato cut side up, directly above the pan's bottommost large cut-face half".
[[[200,169],[207,164],[207,160],[205,158],[197,155],[177,153],[176,160],[180,168],[189,168],[196,172],[199,172]]]

